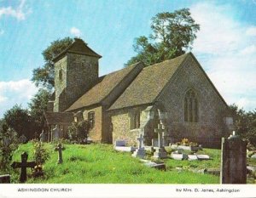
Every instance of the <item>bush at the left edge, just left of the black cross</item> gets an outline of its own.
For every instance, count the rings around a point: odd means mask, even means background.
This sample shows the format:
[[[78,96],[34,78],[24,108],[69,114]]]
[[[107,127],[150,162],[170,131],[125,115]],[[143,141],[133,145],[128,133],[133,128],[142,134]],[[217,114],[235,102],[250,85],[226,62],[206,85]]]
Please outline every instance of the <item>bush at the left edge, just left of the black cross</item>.
[[[18,148],[17,133],[6,124],[0,129],[0,173],[10,168],[14,151]]]

